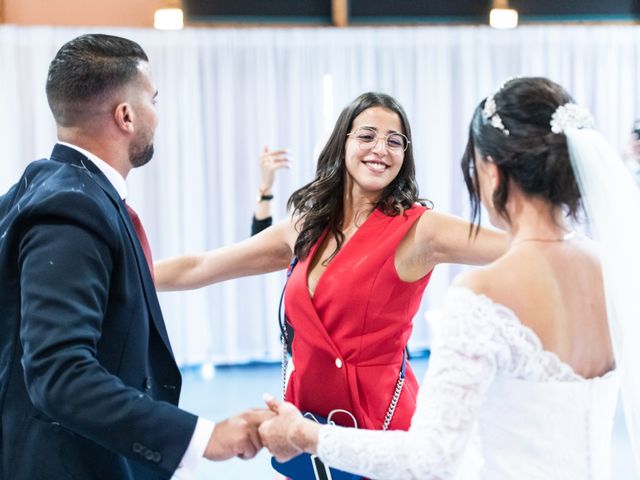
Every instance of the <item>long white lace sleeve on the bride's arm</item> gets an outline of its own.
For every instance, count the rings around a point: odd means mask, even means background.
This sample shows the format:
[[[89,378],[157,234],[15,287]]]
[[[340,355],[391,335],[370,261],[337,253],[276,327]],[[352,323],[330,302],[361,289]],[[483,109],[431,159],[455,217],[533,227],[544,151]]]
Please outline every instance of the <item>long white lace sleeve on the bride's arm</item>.
[[[320,429],[318,456],[340,470],[383,479],[452,478],[484,395],[506,347],[494,304],[452,288],[432,322],[429,368],[411,428],[405,431]]]

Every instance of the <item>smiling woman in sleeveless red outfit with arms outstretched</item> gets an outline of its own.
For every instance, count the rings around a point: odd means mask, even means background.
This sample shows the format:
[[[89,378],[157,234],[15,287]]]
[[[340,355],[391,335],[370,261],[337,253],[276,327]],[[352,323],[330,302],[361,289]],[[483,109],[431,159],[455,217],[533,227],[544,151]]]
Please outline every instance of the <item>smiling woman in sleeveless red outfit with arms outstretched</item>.
[[[156,263],[159,290],[184,290],[299,263],[286,288],[294,371],[286,398],[360,428],[409,427],[418,382],[398,377],[412,319],[439,263],[484,264],[502,234],[419,203],[411,129],[400,104],[365,93],[347,106],[320,153],[315,179],[293,193],[290,218],[238,244]],[[347,416],[337,423],[352,424]]]

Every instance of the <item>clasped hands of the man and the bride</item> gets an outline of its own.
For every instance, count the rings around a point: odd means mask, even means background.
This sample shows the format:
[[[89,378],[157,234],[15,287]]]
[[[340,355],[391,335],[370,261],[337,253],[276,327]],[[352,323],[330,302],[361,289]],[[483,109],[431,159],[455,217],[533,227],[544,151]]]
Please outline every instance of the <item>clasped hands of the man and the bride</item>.
[[[280,462],[315,452],[319,425],[305,420],[288,402],[265,396],[266,409],[253,409],[216,423],[204,456],[209,460],[248,460],[264,446]]]

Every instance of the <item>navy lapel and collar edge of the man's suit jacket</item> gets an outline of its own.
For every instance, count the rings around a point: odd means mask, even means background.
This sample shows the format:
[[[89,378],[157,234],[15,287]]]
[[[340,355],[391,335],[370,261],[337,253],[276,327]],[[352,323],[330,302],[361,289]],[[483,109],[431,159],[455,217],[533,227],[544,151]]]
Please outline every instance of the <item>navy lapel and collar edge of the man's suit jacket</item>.
[[[120,220],[122,221],[122,224],[127,231],[129,241],[131,242],[131,248],[133,248],[133,251],[135,253],[136,263],[138,265],[138,273],[140,274],[140,278],[142,280],[144,296],[146,299],[147,307],[149,308],[149,314],[151,316],[152,322],[155,325],[156,330],[160,334],[160,338],[165,344],[167,350],[173,357],[173,350],[171,349],[169,335],[167,334],[167,329],[164,324],[162,311],[160,309],[160,303],[158,302],[158,295],[156,294],[155,285],[153,283],[153,279],[151,278],[151,272],[149,272],[147,259],[144,255],[144,251],[142,250],[142,246],[140,245],[140,241],[138,240],[138,235],[133,227],[131,218],[127,213],[127,209],[124,205],[124,202],[120,198],[120,195],[118,195],[116,189],[113,187],[113,185],[111,185],[107,177],[104,176],[100,169],[79,151],[74,150],[73,148],[69,148],[65,145],[56,144],[56,146],[53,148],[53,152],[51,153],[51,160],[68,163],[74,165],[75,167],[86,170],[88,176],[100,186],[100,188],[105,192],[107,197],[109,197],[111,203],[118,211]]]

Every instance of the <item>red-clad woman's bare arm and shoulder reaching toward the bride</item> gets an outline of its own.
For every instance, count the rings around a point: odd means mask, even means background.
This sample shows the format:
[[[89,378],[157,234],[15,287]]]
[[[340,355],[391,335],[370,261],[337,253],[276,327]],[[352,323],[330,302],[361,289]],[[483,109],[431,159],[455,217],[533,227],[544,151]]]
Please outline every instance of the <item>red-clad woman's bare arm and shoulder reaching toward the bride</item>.
[[[444,213],[425,212],[403,240],[396,256],[400,278],[415,281],[440,263],[484,265],[502,256],[509,242],[503,232],[481,228],[469,235],[469,222]]]

